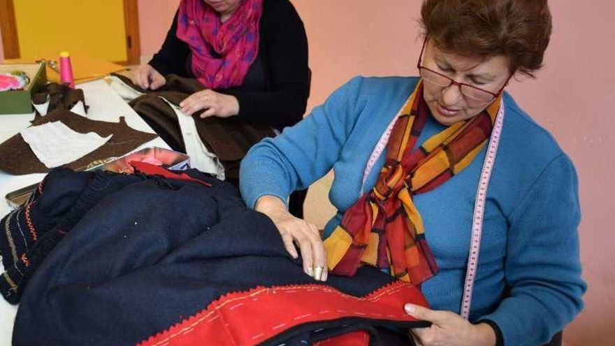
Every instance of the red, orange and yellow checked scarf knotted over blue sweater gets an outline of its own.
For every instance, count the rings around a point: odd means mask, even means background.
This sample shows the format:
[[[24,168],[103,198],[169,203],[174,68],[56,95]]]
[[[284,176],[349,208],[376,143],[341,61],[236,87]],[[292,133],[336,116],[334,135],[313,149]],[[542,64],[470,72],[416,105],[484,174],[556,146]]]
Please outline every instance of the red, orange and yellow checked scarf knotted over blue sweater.
[[[476,117],[447,127],[414,150],[431,116],[419,82],[391,131],[375,187],[324,241],[332,273],[352,276],[363,263],[388,268],[417,286],[437,273],[412,196],[435,189],[472,162],[491,136],[500,101],[501,96]]]

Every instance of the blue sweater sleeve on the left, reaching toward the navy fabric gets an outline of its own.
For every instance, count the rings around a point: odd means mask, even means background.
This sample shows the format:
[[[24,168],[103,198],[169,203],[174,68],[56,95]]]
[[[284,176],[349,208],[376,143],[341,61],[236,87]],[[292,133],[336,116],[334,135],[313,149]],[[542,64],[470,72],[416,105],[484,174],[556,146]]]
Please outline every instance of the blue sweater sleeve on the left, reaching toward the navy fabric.
[[[286,201],[331,170],[360,113],[362,79],[353,78],[280,136],[252,147],[240,165],[240,191],[248,208],[264,195]]]

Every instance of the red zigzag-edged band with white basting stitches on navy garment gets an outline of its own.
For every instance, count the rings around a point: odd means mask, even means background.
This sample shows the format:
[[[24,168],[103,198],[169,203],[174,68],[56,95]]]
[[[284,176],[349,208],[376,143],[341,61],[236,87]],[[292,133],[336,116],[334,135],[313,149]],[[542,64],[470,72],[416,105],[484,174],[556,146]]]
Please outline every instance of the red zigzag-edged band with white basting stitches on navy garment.
[[[321,284],[256,287],[245,292],[226,294],[205,310],[139,345],[196,346],[205,342],[220,346],[256,345],[294,326],[344,317],[417,321],[405,313],[405,303],[428,307],[417,287],[401,281],[361,298]]]

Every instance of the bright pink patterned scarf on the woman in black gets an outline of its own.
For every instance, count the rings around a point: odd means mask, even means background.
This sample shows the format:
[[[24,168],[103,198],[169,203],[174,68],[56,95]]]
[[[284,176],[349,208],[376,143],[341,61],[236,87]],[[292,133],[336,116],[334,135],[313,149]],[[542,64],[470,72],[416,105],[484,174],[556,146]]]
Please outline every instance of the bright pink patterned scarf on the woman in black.
[[[243,83],[259,54],[259,22],[263,0],[243,0],[224,23],[203,0],[182,0],[178,10],[180,40],[192,52],[192,72],[210,89]]]

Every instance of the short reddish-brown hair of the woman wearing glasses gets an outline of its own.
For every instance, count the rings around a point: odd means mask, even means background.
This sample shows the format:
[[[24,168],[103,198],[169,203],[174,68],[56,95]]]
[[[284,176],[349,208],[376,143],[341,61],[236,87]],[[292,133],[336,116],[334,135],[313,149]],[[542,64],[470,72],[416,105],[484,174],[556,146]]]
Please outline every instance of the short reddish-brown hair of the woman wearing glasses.
[[[505,55],[511,71],[533,77],[551,36],[547,0],[424,0],[424,34],[458,55]]]

